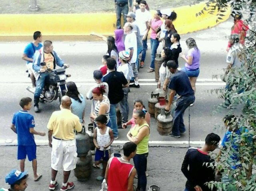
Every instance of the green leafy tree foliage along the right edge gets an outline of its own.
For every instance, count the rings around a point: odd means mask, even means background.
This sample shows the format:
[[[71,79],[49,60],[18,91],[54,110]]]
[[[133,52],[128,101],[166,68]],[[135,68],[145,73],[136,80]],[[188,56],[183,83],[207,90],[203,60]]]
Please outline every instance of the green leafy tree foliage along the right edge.
[[[239,52],[243,67],[232,68],[228,75],[222,76],[229,84],[229,90],[219,88],[210,92],[224,99],[215,112],[218,112],[222,106],[227,107],[229,114],[238,108],[236,112],[239,116],[236,124],[246,130],[242,131],[241,135],[233,132],[225,149],[221,150],[220,155],[215,155],[218,159],[214,166],[222,174],[222,179],[209,182],[207,185],[211,189],[215,186],[218,191],[254,191],[256,190],[256,174],[253,173],[253,168],[256,166],[256,35],[254,32],[256,0],[209,0],[204,10],[208,10],[209,14],[218,10],[216,20],[218,22],[222,20],[228,6],[234,11],[242,12],[246,18],[245,22],[250,26],[245,46],[241,47]],[[238,157],[238,161],[234,160],[234,155]]]

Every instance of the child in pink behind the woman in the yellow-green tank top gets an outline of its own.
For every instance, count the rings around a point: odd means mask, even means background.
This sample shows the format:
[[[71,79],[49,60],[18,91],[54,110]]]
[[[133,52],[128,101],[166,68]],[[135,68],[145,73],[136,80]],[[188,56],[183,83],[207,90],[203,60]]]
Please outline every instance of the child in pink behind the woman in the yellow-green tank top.
[[[135,99],[134,100],[134,109],[133,109],[132,112],[134,113],[138,109],[140,109],[140,110],[144,111],[144,113],[146,113],[145,120],[148,123],[148,125],[150,126],[150,114],[144,108],[144,105],[143,105],[143,102],[142,102],[141,99]],[[134,118],[130,119],[127,123],[123,123],[122,127],[125,129],[127,127],[127,125],[132,125],[132,127],[134,127],[134,125],[135,125]]]

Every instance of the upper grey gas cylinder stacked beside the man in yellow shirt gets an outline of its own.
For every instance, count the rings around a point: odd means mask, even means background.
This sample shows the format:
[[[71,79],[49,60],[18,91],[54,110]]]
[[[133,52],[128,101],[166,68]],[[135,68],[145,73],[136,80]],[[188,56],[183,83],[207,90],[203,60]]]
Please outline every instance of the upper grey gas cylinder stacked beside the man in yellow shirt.
[[[85,133],[84,127],[81,132],[76,132],[76,147],[78,157],[84,157],[90,151],[90,137]]]

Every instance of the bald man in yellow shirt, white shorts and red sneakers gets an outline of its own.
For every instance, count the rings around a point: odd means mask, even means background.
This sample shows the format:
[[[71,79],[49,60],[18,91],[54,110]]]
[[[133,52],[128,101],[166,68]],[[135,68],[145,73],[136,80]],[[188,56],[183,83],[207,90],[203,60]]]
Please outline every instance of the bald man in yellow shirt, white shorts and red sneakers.
[[[68,182],[70,171],[76,168],[76,139],[74,130],[82,131],[79,117],[71,113],[71,99],[68,96],[61,98],[60,111],[54,111],[49,119],[47,128],[49,146],[52,147],[51,167],[52,179],[49,189],[54,190],[58,185],[56,175],[63,167],[63,183],[61,191],[74,187],[73,182]]]

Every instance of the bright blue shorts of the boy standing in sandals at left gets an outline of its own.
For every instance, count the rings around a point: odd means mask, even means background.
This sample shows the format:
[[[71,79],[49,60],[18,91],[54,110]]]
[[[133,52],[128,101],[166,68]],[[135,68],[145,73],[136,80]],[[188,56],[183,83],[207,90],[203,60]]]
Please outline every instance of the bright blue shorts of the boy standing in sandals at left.
[[[36,145],[18,145],[18,160],[26,159],[32,161],[36,159]]]

